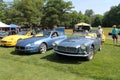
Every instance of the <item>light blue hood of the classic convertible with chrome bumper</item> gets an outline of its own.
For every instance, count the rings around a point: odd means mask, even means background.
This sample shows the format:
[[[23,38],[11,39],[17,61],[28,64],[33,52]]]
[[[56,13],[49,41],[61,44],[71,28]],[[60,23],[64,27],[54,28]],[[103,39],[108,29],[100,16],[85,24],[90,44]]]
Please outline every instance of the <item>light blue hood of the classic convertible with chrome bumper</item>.
[[[80,47],[80,45],[87,45],[91,42],[91,39],[86,38],[68,38],[66,40],[63,40],[58,45],[59,46],[66,46],[66,47]]]

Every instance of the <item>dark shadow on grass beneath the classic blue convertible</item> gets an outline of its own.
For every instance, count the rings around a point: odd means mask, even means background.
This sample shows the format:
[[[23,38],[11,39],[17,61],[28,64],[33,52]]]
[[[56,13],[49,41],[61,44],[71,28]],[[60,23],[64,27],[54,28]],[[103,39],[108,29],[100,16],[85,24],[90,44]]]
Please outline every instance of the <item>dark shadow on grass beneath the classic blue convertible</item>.
[[[81,64],[82,62],[86,62],[85,58],[82,57],[62,56],[55,53],[49,54],[40,59],[46,59],[51,62],[57,62],[63,64]]]

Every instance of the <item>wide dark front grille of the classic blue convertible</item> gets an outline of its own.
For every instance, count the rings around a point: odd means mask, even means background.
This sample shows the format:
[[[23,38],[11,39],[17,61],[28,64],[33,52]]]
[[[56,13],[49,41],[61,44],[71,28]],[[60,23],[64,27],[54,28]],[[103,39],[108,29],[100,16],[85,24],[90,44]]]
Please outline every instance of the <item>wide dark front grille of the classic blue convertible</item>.
[[[58,46],[57,49],[61,52],[78,53],[78,49],[74,47]]]

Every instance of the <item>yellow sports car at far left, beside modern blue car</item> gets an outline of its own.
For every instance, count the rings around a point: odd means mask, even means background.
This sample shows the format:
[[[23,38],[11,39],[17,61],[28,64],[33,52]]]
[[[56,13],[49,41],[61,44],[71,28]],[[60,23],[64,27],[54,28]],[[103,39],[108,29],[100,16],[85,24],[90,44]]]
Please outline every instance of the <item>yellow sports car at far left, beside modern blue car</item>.
[[[6,36],[4,37],[1,41],[0,44],[1,46],[15,46],[16,43],[19,40],[25,39],[25,38],[30,38],[32,37],[34,34],[32,31],[29,32],[25,32],[25,31],[21,31],[19,32],[17,35],[10,35],[10,36]],[[38,36],[42,36],[42,34],[37,34]]]

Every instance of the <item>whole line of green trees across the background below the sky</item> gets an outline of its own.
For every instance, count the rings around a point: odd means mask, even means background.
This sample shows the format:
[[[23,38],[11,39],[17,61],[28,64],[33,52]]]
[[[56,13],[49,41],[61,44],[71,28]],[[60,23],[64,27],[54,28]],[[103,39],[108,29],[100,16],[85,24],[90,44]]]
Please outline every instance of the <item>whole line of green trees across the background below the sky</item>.
[[[13,0],[5,3],[0,0],[0,20],[7,24],[41,25],[52,28],[62,25],[73,28],[76,23],[86,22],[92,26],[120,25],[120,4],[112,6],[105,14],[94,14],[92,9],[87,9],[85,14],[73,11],[71,1],[64,0]]]

